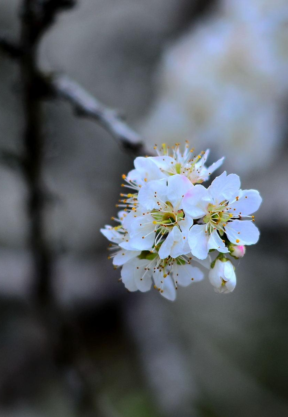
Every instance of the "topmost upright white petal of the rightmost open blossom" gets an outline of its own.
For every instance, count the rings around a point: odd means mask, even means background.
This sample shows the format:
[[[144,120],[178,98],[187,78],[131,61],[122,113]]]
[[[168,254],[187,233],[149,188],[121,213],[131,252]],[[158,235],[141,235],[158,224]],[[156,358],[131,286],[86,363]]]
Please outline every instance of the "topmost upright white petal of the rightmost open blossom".
[[[212,181],[208,188],[209,195],[213,198],[214,203],[221,203],[223,200],[231,200],[238,195],[240,188],[240,178],[236,174],[226,174],[224,171],[221,175]]]

